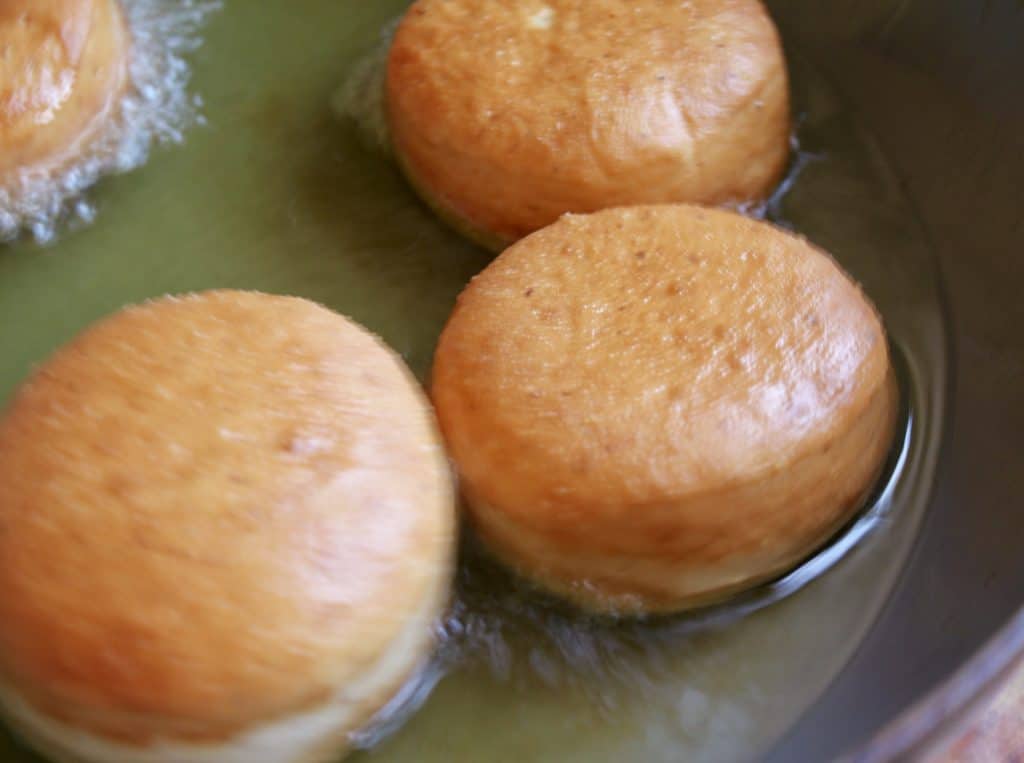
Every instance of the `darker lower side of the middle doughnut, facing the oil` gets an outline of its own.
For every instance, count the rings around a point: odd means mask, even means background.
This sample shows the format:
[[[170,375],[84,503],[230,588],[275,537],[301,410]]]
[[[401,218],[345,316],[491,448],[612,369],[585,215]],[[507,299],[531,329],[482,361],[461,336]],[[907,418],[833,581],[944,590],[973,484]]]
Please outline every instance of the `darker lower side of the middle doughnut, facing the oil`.
[[[466,491],[470,520],[518,575],[585,609],[635,616],[713,604],[793,568],[863,507],[889,455],[897,406],[889,375],[864,410],[851,412],[847,432],[792,466],[656,506],[617,507],[603,538],[539,529]],[[648,550],[623,553],[623,539]]]

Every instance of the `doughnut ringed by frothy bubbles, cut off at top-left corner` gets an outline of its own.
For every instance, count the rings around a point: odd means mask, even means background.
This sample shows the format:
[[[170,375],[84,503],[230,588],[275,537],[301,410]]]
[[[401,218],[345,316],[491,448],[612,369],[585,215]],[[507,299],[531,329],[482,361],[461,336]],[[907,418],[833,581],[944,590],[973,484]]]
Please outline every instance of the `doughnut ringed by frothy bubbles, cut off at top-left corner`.
[[[59,165],[114,110],[131,42],[118,0],[0,4],[0,185]]]

